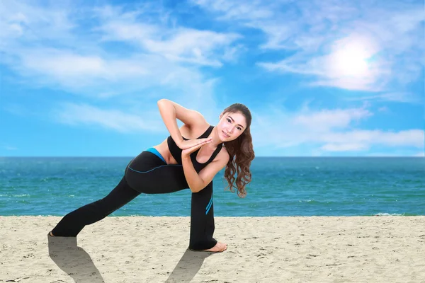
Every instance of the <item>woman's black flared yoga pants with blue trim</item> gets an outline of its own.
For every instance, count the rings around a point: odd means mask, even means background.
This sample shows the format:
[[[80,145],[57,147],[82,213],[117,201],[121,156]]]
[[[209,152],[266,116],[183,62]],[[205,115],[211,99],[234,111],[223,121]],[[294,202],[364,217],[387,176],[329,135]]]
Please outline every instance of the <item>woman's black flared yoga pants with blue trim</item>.
[[[142,192],[158,194],[188,189],[183,166],[167,165],[157,151],[153,152],[142,151],[130,161],[123,179],[106,197],[69,212],[52,230],[53,235],[75,237],[84,226],[104,219]],[[206,250],[215,246],[214,230],[211,181],[200,192],[192,193],[189,248]]]

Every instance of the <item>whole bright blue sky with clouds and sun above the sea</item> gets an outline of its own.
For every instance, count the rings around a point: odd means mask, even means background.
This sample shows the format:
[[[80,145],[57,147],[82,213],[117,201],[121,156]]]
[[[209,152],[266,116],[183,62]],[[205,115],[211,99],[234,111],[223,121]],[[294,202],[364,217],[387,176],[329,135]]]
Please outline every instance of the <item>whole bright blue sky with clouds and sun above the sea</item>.
[[[161,98],[244,103],[256,156],[424,156],[422,1],[89,2],[0,2],[0,156],[135,156]]]

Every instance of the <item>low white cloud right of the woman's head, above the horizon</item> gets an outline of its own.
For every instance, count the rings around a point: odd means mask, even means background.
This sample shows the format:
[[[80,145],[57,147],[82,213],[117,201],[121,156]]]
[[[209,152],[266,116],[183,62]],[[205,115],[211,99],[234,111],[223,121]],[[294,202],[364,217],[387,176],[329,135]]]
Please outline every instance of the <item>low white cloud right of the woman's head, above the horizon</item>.
[[[389,149],[424,149],[424,130],[385,131],[359,129],[359,122],[373,115],[363,108],[287,112],[268,105],[266,112],[253,112],[254,146],[291,152],[307,146],[300,155],[329,155],[334,151],[365,152],[373,146]],[[273,122],[273,121],[278,121]]]

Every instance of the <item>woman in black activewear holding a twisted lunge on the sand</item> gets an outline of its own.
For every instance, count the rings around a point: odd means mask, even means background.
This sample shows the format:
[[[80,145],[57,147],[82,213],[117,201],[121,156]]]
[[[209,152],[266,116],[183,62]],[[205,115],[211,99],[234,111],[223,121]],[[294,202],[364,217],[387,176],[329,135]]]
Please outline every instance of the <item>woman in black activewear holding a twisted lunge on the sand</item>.
[[[89,224],[104,219],[140,193],[162,194],[190,189],[191,238],[189,248],[196,251],[222,252],[225,243],[212,238],[214,207],[212,178],[225,168],[231,192],[246,196],[245,186],[251,182],[249,166],[254,159],[251,112],[235,103],[223,110],[220,122],[211,126],[200,112],[189,110],[171,100],[158,101],[159,112],[170,136],[128,163],[118,185],[101,200],[84,205],[65,215],[49,236],[73,236]],[[184,125],[179,129],[176,119]],[[234,174],[237,178],[234,185]],[[227,188],[226,187],[226,188]]]

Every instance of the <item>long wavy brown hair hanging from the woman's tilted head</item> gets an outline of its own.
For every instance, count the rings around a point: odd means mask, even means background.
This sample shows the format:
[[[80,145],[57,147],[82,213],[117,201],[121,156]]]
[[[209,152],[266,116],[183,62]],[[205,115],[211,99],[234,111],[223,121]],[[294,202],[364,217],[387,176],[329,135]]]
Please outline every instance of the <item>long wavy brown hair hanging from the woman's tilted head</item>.
[[[241,113],[246,119],[246,129],[244,132],[234,139],[233,141],[225,141],[223,144],[229,153],[229,162],[225,168],[225,178],[227,180],[227,187],[231,192],[234,192],[233,187],[237,188],[237,195],[241,198],[246,197],[245,187],[251,182],[251,172],[249,166],[254,159],[254,149],[252,146],[251,137],[251,112],[245,105],[241,103],[234,103],[228,108],[223,110],[223,113]],[[237,168],[237,170],[236,170]],[[237,171],[236,185],[234,185],[234,174]],[[225,190],[227,189],[225,187]]]

